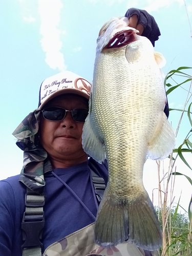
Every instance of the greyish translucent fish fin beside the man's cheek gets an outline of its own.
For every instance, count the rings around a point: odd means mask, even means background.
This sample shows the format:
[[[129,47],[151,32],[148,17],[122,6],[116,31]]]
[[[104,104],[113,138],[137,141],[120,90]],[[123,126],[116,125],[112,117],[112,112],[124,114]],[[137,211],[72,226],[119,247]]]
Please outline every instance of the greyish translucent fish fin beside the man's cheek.
[[[98,163],[102,163],[106,159],[104,144],[97,137],[92,128],[90,114],[83,125],[82,147],[84,152],[95,159]]]

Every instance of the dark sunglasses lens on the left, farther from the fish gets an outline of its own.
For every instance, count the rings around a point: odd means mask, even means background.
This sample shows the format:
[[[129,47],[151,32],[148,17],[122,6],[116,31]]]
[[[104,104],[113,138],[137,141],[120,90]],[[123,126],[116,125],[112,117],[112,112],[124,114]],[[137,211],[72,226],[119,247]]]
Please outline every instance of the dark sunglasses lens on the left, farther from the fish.
[[[42,111],[44,118],[51,121],[61,121],[66,114],[65,109],[60,108],[46,108]]]

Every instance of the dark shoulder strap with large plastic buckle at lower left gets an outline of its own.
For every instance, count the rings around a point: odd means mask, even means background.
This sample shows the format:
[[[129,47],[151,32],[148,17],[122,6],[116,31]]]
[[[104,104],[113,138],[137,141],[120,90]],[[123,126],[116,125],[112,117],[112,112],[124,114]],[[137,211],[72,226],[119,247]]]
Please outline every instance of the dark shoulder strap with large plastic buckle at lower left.
[[[22,220],[23,241],[22,256],[41,256],[42,229],[45,225],[43,206],[45,196],[34,193],[27,187],[25,212]]]

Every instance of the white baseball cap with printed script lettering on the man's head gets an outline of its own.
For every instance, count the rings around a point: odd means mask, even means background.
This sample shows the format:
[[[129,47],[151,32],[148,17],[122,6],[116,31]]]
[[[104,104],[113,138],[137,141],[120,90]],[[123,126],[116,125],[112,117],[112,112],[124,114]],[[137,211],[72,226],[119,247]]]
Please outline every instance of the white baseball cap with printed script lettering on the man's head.
[[[46,78],[40,86],[38,109],[61,94],[74,93],[89,99],[91,83],[81,76],[71,72],[63,71]]]

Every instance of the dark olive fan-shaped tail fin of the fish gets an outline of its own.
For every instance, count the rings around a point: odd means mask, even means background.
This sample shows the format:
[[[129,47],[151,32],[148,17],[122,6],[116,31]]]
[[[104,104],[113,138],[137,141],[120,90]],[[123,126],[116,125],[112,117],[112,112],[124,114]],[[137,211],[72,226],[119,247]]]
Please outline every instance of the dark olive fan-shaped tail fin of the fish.
[[[103,198],[104,199],[104,198]],[[95,242],[103,247],[129,242],[146,250],[162,245],[162,231],[154,206],[146,193],[135,202],[115,202],[106,195],[95,223]]]

